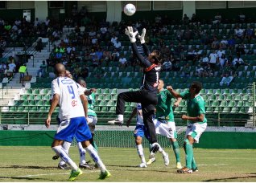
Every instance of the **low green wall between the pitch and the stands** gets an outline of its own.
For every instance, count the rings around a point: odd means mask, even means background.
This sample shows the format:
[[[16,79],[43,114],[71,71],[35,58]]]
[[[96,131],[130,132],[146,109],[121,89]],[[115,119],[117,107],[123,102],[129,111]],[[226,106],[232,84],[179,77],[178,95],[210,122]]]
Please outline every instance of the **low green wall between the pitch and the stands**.
[[[51,146],[56,131],[1,130],[1,146]],[[97,131],[99,147],[134,148],[131,131]],[[163,147],[170,146],[167,138],[158,136]],[[195,148],[256,148],[256,132],[204,132]],[[147,140],[143,142],[148,147]],[[181,145],[182,146],[182,145]]]

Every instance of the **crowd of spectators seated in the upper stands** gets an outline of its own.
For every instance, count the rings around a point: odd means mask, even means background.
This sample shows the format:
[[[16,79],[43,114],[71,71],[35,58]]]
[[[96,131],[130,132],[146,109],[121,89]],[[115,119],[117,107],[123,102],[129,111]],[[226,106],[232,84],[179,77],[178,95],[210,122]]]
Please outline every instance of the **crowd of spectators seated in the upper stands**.
[[[231,26],[231,22],[235,26]],[[196,14],[188,18],[184,14],[180,22],[157,14],[153,21],[139,19],[128,23],[138,31],[147,28],[146,43],[151,50],[161,51],[163,71],[178,71],[180,77],[234,78],[239,66],[249,64],[243,56],[254,54],[254,49],[248,47],[255,39],[254,22],[242,13],[232,21],[222,18],[219,13],[211,20],[197,18]],[[39,22],[36,18],[35,22],[29,23],[23,18],[9,23],[0,19],[0,50],[14,39],[27,36],[48,37],[54,43],[60,40],[63,27],[75,27],[54,46],[46,60],[47,67],[63,63],[75,78],[86,78],[92,70],[95,77],[101,78],[105,72],[102,67],[111,67],[112,63],[117,63],[114,65],[124,71],[127,67],[135,69],[138,66],[129,40],[122,34],[126,25],[125,21],[97,22],[87,14],[85,7],[77,10],[76,6],[72,7],[72,17],[64,22],[53,22],[49,18]],[[35,49],[40,51],[42,48],[39,40]],[[143,53],[139,44],[138,51]],[[9,64],[6,67],[10,69]],[[46,76],[46,70],[40,67],[40,75]]]

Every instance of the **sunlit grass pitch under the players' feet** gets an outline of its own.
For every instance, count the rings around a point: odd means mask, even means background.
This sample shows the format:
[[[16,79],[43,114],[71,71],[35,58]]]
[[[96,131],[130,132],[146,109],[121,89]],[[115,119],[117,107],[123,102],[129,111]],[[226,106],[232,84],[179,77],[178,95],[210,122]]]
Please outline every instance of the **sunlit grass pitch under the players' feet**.
[[[164,166],[158,153],[157,161],[145,169],[140,163],[135,148],[99,148],[102,161],[112,174],[105,181],[256,181],[256,149],[194,149],[199,172],[176,173],[174,153],[169,153],[170,165]],[[144,152],[148,156],[148,149]],[[181,149],[184,165],[184,151]],[[50,147],[0,147],[0,181],[67,181],[69,170],[57,169]],[[77,148],[70,155],[79,163]],[[89,160],[89,155],[87,155]],[[84,174],[76,181],[97,180],[99,169],[83,169]]]

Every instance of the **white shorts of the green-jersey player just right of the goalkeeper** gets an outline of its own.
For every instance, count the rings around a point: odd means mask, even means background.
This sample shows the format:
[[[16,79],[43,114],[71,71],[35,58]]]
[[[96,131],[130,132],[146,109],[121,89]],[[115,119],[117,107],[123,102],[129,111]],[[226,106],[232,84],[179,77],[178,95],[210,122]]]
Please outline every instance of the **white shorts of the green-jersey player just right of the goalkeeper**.
[[[164,120],[163,120],[164,121]],[[167,136],[167,138],[177,138],[176,133],[176,127],[175,122],[167,122],[163,123],[160,120],[153,120],[153,123],[155,124],[155,132],[156,134]]]

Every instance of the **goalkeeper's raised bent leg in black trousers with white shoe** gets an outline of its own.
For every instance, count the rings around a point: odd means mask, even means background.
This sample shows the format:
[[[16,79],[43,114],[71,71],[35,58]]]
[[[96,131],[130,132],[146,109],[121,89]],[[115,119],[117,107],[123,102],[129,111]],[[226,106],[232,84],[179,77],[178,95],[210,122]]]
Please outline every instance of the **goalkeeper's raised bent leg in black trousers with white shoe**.
[[[116,114],[118,115],[118,119],[109,120],[108,124],[118,124],[122,125],[123,123],[123,114],[125,112],[125,103],[126,102],[136,102],[140,103],[143,98],[144,92],[142,91],[126,91],[118,94]]]

